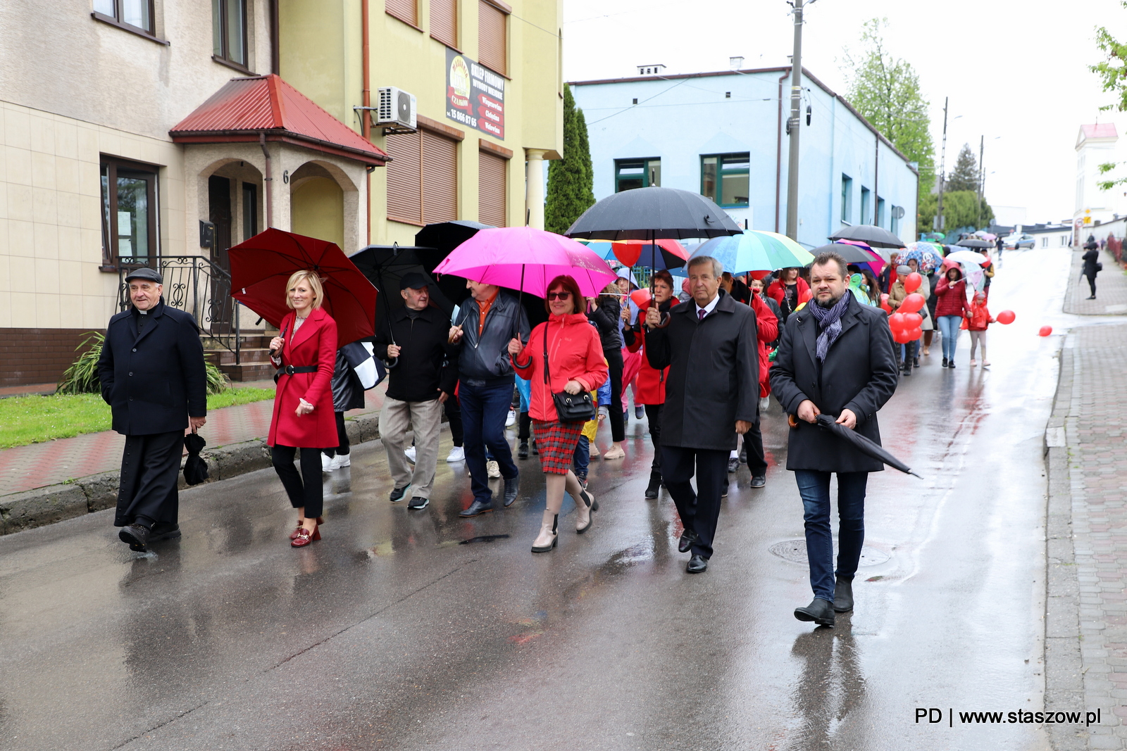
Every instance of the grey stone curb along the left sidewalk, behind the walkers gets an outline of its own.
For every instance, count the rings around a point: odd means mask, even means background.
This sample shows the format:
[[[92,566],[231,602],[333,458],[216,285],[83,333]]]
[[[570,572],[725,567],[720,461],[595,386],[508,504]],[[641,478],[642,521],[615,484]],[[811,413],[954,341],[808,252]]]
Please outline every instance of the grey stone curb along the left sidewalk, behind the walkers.
[[[442,421],[446,421],[445,411]],[[366,444],[380,438],[379,411],[360,414],[345,421],[350,444]],[[207,447],[201,456],[207,462],[207,482],[230,480],[248,472],[270,466],[270,449],[265,438],[255,438],[227,446]],[[184,464],[181,462],[180,468]],[[43,527],[85,513],[117,506],[119,472],[101,472],[71,482],[0,495],[0,535]],[[206,484],[206,483],[203,483]],[[183,472],[179,489],[187,488]]]

